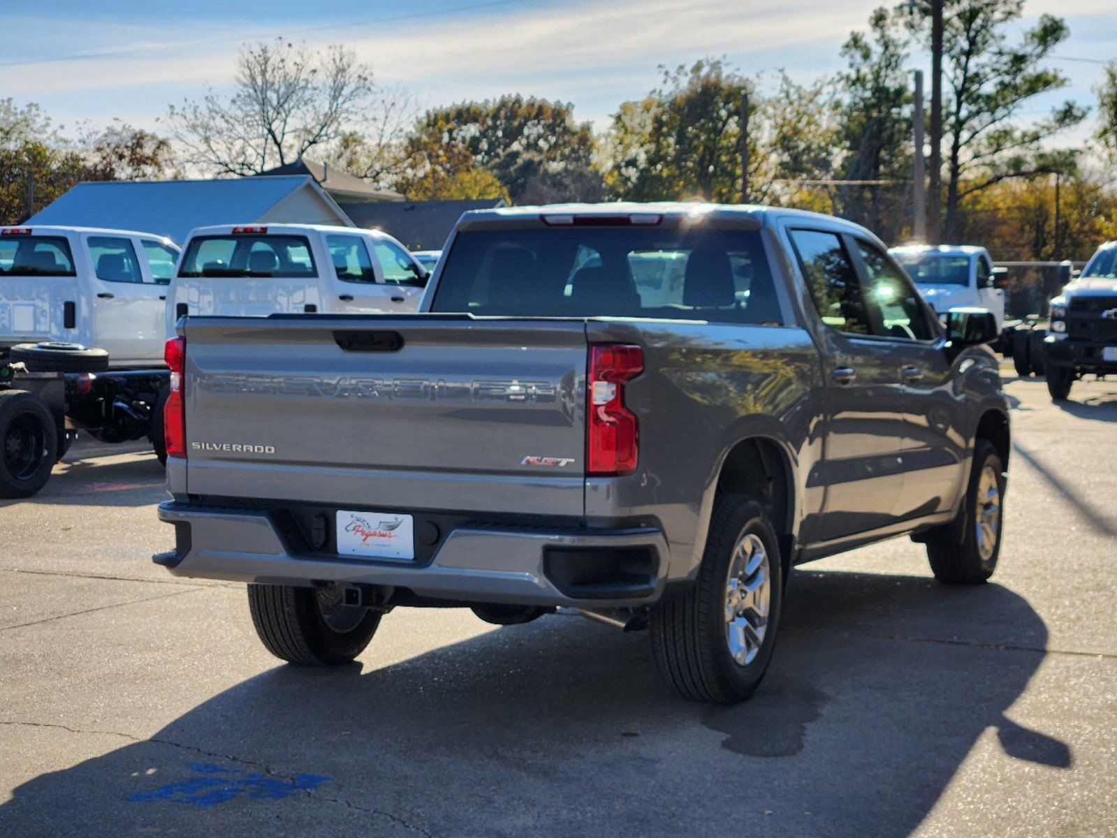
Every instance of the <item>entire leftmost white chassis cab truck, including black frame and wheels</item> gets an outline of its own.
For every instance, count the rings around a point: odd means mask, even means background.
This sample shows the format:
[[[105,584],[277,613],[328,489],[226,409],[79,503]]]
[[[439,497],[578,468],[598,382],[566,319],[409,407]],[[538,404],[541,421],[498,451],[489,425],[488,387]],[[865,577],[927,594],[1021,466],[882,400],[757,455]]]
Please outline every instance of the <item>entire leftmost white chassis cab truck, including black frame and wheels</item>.
[[[166,285],[151,234],[0,228],[0,497],[28,497],[79,429],[160,449]]]

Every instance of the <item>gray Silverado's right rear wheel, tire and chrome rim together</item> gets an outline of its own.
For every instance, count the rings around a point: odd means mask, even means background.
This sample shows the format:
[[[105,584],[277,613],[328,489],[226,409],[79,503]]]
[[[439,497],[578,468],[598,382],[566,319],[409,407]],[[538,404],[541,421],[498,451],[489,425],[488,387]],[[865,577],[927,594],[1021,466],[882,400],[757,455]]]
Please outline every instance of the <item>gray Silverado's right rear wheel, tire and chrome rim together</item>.
[[[772,659],[782,599],[783,565],[767,513],[746,495],[725,495],[694,588],[649,613],[660,675],[690,701],[744,701]]]

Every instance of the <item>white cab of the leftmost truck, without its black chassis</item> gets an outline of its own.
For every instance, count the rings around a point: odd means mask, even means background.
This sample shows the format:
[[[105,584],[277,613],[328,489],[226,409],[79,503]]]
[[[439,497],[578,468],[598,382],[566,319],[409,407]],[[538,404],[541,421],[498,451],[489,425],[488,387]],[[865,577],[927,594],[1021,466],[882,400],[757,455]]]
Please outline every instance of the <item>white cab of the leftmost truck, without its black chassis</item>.
[[[102,349],[109,368],[163,366],[163,312],[179,248],[145,232],[0,228],[0,351],[55,341]]]

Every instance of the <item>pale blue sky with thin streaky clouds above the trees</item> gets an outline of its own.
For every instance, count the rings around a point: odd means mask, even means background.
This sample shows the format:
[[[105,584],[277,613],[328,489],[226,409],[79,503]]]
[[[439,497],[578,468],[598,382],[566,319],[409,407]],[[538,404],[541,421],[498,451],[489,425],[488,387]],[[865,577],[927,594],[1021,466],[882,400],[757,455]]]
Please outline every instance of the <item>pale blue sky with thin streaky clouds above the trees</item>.
[[[246,41],[341,42],[378,80],[427,107],[517,92],[573,102],[599,128],[658,82],[659,65],[725,56],[746,74],[806,82],[842,67],[839,49],[880,0],[41,0],[0,15],[0,97],[36,102],[66,128],[121,118],[159,130],[169,104],[221,89]],[[9,7],[10,9],[11,7]],[[1052,64],[1070,79],[1030,103],[1096,103],[1117,58],[1115,0],[1028,0],[1025,23],[1066,18]],[[1071,60],[1078,59],[1078,60]],[[1092,118],[1092,117],[1091,117]],[[1067,137],[1085,141],[1088,128]]]

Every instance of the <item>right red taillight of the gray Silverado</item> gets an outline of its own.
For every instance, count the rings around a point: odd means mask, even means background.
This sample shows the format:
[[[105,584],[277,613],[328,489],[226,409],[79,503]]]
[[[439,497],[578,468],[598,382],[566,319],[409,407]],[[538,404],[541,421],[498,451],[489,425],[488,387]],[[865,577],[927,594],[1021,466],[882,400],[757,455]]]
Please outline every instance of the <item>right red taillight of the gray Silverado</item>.
[[[643,350],[622,343],[590,346],[585,472],[605,477],[636,470],[639,426],[624,407],[624,382],[643,372]]]

